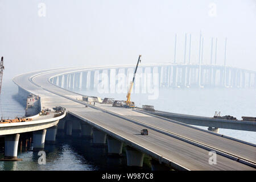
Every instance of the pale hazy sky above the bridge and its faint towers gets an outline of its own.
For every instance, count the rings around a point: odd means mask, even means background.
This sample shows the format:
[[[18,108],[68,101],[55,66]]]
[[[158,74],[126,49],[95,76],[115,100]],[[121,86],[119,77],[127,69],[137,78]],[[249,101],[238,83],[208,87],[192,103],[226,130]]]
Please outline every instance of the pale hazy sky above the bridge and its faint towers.
[[[43,14],[45,5],[45,16]],[[43,16],[42,16],[43,15]],[[256,70],[256,1],[0,0],[0,56],[4,80],[38,69],[81,65],[163,63],[184,60],[185,33],[192,34],[192,63],[203,63],[218,38],[217,64]]]

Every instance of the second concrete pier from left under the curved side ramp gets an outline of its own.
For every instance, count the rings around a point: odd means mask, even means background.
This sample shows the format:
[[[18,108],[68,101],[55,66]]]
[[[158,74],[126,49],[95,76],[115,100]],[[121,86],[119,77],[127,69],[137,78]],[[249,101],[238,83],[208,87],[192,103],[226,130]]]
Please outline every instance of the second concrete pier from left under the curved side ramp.
[[[46,129],[33,131],[33,150],[34,151],[43,150],[45,139],[46,139]]]

